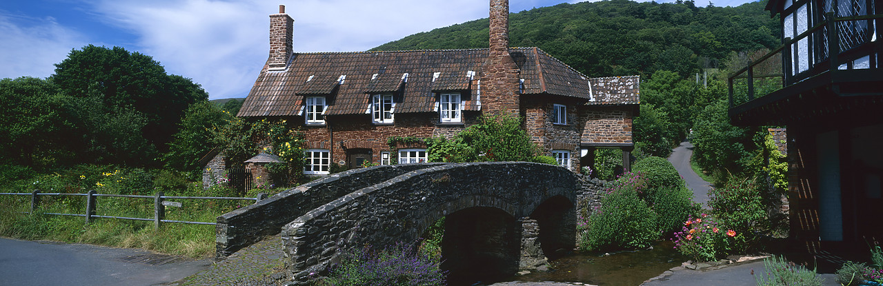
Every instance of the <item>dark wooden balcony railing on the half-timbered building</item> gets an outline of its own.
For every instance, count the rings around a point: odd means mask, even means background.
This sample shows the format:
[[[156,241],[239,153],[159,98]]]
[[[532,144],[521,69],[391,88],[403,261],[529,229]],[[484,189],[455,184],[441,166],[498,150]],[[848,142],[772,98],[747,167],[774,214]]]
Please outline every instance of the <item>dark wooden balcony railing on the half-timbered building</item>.
[[[880,53],[880,41],[874,36],[883,23],[880,19],[883,14],[834,18],[834,13],[826,13],[819,25],[794,39],[785,38],[779,48],[734,72],[728,79],[729,108],[821,73],[833,74],[848,68],[878,69],[879,63],[867,67],[851,65],[859,58]]]

